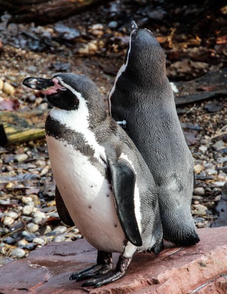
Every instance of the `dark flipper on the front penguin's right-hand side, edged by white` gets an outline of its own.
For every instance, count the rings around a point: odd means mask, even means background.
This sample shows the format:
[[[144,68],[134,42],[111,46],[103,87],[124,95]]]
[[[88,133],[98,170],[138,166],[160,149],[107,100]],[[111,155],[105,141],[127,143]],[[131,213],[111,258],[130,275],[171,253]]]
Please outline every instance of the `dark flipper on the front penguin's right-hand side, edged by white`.
[[[136,174],[130,163],[123,159],[108,160],[115,207],[126,238],[137,247],[142,239],[135,214],[134,191]]]

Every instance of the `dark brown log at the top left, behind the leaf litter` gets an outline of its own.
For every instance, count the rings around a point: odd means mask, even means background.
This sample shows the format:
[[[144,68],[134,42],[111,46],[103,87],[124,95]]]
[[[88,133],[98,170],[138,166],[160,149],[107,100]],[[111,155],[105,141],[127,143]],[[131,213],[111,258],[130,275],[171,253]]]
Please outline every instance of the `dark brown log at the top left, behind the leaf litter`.
[[[110,0],[0,0],[1,10],[8,10],[11,22],[47,24],[84,11],[91,6]]]

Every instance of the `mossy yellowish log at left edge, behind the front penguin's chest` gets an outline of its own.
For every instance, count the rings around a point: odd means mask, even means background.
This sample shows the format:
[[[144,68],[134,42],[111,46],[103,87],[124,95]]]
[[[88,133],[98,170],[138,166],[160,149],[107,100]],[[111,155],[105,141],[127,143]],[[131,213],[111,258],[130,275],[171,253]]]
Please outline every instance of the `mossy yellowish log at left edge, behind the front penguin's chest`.
[[[45,137],[44,124],[48,111],[0,111],[0,146],[41,139]]]

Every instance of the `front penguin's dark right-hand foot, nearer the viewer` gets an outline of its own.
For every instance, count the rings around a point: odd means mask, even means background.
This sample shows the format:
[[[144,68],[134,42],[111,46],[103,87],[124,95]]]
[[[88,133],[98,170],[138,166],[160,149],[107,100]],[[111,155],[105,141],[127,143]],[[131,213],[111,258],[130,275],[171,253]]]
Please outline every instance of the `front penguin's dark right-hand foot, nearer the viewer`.
[[[120,256],[116,269],[114,271],[108,272],[101,276],[94,276],[92,279],[84,282],[82,284],[82,287],[94,286],[94,288],[97,288],[110,282],[119,280],[126,274],[126,271],[131,261],[132,258]]]

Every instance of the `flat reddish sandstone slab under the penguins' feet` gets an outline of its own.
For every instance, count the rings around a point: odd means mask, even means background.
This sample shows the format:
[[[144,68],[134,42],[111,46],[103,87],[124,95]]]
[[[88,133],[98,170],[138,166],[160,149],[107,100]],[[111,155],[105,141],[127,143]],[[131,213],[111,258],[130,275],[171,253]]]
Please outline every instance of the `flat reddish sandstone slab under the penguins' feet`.
[[[153,293],[226,294],[227,227],[198,230],[201,242],[190,248],[166,248],[158,257],[136,254],[119,281],[97,289],[82,288],[82,282],[69,281],[72,272],[95,263],[96,250],[85,240],[49,243],[23,260],[0,268],[0,292],[73,293]],[[118,255],[114,255],[116,263]]]

